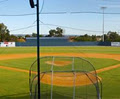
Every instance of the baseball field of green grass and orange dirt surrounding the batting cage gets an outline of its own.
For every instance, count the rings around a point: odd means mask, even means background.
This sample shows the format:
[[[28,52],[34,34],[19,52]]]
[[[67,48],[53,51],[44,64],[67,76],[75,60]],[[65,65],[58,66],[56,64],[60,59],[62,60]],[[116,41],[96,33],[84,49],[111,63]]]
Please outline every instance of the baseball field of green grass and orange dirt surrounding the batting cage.
[[[72,56],[89,60],[102,80],[103,99],[120,99],[120,47],[41,47],[40,56]],[[36,47],[0,48],[0,99],[30,99],[29,69],[35,60]],[[69,88],[67,91],[58,90],[65,95]],[[72,99],[55,94],[56,99]]]

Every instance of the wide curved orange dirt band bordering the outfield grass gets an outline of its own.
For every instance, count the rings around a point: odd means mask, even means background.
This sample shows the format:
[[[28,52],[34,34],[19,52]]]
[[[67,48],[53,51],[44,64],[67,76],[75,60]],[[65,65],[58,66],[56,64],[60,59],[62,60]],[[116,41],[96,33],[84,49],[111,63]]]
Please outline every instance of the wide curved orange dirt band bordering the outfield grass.
[[[40,56],[69,56],[69,57],[89,57],[89,58],[106,58],[120,61],[120,54],[98,54],[98,53],[41,53]],[[2,54],[0,60],[21,59],[36,57],[36,53],[28,54]]]

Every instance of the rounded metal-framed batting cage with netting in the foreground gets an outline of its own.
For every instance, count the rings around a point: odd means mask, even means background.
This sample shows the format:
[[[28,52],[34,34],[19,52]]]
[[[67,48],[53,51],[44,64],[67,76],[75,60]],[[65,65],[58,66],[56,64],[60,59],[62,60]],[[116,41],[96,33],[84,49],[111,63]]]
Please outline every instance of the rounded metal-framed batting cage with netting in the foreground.
[[[37,99],[37,61],[29,74],[31,99]],[[41,99],[101,99],[101,82],[93,65],[80,57],[40,58]]]

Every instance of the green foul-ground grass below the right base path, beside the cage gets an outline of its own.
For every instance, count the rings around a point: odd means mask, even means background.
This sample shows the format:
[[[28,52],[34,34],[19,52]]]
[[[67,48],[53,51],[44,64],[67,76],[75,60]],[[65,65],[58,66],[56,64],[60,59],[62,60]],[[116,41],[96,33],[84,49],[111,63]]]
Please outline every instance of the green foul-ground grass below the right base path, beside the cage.
[[[99,74],[103,83],[103,99],[120,99],[120,68]]]

